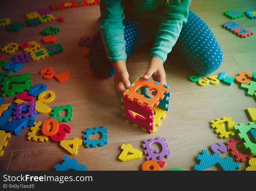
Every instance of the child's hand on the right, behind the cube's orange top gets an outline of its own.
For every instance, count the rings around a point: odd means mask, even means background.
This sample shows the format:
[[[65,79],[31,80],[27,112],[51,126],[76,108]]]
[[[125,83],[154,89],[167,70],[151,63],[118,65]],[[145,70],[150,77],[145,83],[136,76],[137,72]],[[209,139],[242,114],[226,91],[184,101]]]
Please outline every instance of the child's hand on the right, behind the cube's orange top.
[[[143,78],[148,79],[152,76],[154,81],[158,81],[162,84],[166,83],[166,74],[163,68],[163,62],[160,58],[152,56],[147,68],[147,72],[144,74]],[[152,95],[155,95],[157,92],[152,92]]]

